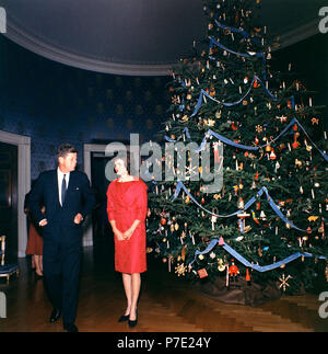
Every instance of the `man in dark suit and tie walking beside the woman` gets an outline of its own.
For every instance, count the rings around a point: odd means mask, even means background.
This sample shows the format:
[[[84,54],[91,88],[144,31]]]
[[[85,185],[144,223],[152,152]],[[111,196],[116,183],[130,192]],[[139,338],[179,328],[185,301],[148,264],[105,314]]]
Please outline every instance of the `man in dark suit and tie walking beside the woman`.
[[[61,145],[57,158],[57,170],[39,174],[30,195],[30,207],[43,227],[44,276],[54,306],[50,322],[56,322],[62,313],[63,329],[78,332],[74,321],[82,253],[81,222],[94,207],[95,197],[86,174],[74,171],[75,148]],[[45,205],[45,215],[40,205]]]

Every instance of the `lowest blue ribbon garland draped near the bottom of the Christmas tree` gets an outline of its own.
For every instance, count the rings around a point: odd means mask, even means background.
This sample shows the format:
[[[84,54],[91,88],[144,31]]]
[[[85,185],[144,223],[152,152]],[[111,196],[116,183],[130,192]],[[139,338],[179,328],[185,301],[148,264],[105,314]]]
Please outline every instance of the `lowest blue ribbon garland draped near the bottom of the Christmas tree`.
[[[219,239],[213,239],[210,244],[203,250],[203,251],[196,251],[195,252],[195,258],[194,260],[190,262],[190,265],[192,265],[192,263],[196,261],[196,258],[197,255],[199,254],[206,254],[208,252],[210,252],[215,245],[216,243],[219,243],[220,240]],[[279,261],[279,262],[274,262],[272,264],[269,264],[269,265],[265,265],[265,266],[261,266],[261,265],[258,265],[258,264],[253,264],[250,262],[248,262],[242,254],[239,254],[237,251],[235,251],[233,248],[231,248],[230,245],[227,245],[225,242],[224,244],[222,244],[222,248],[227,252],[230,253],[234,259],[236,259],[237,261],[239,261],[242,264],[244,264],[245,266],[247,267],[250,267],[255,271],[258,271],[260,273],[263,273],[263,272],[268,272],[268,271],[272,271],[274,269],[278,269],[280,267],[281,265],[283,264],[288,264],[292,261],[295,261],[296,259],[298,259],[300,256],[306,256],[306,258],[312,258],[314,256],[312,253],[307,253],[307,252],[296,252],[294,254],[291,254],[290,256]],[[319,260],[326,260],[326,256],[324,255],[319,255],[319,256],[316,256],[318,258]]]

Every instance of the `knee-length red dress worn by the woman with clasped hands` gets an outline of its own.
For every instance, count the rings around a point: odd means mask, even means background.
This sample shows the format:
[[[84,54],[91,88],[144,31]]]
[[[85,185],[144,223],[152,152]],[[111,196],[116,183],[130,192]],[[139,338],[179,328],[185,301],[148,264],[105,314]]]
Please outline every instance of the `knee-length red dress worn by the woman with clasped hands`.
[[[147,189],[144,182],[134,179],[129,182],[113,181],[107,190],[108,220],[115,220],[121,232],[128,230],[134,220],[140,220],[129,240],[115,240],[115,270],[120,273],[147,271],[145,215]]]

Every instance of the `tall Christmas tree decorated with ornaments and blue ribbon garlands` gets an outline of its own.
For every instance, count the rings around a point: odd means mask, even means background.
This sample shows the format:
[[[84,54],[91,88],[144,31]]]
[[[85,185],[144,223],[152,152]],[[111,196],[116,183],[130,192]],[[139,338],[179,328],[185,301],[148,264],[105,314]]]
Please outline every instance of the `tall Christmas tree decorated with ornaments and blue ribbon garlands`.
[[[292,65],[273,71],[259,7],[204,2],[204,46],[172,72],[174,155],[157,161],[148,240],[177,276],[296,294],[327,279],[327,134]]]

